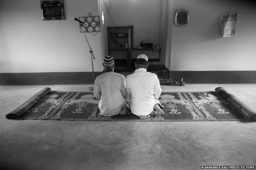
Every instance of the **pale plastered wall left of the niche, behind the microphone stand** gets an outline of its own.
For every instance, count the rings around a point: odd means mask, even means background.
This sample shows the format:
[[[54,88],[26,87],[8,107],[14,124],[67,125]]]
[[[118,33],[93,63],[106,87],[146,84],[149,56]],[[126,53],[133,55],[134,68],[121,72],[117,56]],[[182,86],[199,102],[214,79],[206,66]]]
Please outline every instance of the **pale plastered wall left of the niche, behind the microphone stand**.
[[[64,0],[66,20],[43,21],[39,0],[1,0],[0,73],[91,72],[90,49],[74,18],[98,15],[99,7],[95,0]],[[102,71],[102,53],[107,52],[101,46],[104,27],[97,35],[86,33],[94,71]]]

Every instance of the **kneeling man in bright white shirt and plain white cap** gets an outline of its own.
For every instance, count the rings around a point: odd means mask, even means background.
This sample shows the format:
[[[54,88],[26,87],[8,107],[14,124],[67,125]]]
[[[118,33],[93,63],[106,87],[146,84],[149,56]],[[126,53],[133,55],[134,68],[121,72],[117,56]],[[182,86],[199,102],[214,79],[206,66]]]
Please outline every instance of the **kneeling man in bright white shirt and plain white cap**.
[[[164,115],[158,98],[161,95],[161,86],[157,75],[147,72],[148,57],[140,54],[135,62],[136,70],[126,76],[126,90],[131,98],[131,112],[142,119],[148,119],[155,109],[158,115]]]

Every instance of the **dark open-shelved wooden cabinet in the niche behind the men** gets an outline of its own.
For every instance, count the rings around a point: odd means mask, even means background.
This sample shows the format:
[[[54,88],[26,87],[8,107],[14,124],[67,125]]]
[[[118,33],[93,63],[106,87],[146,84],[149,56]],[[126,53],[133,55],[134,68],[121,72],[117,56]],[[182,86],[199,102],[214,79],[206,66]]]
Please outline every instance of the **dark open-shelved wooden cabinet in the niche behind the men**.
[[[133,26],[108,26],[108,55],[113,56],[117,71],[131,70]]]

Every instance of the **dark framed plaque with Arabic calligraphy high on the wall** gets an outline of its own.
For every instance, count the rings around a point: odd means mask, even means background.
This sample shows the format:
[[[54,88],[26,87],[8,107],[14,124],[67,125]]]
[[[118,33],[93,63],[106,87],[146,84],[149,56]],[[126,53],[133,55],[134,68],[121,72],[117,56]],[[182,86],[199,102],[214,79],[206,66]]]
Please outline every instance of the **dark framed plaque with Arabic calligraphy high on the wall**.
[[[65,20],[64,2],[40,1],[43,20]]]

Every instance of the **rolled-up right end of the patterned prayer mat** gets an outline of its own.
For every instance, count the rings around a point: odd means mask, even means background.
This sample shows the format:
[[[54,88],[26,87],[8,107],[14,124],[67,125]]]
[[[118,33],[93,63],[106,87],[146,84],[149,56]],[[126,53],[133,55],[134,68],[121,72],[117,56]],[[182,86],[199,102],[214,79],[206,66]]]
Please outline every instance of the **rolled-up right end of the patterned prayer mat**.
[[[223,99],[225,99],[227,102],[235,106],[239,111],[241,111],[249,119],[256,120],[256,111],[254,111],[247,104],[242,102],[239,98],[237,98],[233,94],[230,94],[223,87],[217,87],[215,91],[218,94],[220,94],[223,97]]]

